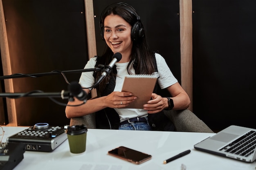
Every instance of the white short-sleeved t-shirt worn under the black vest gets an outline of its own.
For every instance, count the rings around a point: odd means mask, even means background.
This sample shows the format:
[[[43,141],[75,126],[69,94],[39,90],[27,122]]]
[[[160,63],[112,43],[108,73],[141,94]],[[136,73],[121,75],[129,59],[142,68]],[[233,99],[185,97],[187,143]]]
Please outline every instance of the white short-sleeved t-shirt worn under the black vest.
[[[155,53],[155,58],[157,62],[157,70],[159,74],[159,79],[157,80],[161,89],[167,88],[175,83],[177,83],[177,79],[171,73],[170,68],[166,64],[164,58]],[[86,68],[94,68],[96,64],[96,57],[91,58],[88,63],[85,65]],[[128,75],[127,72],[127,63],[116,63],[117,66],[117,77],[116,77],[116,86],[114,91],[121,91],[124,77]],[[135,70],[133,67],[130,68],[131,73],[135,74]],[[81,74],[79,84],[82,87],[91,87],[94,84],[93,72],[83,72]],[[135,101],[136,102],[136,101]],[[144,109],[132,109],[132,108],[115,108],[116,112],[119,114],[120,122],[127,120],[133,117],[145,117],[148,115],[147,110]]]

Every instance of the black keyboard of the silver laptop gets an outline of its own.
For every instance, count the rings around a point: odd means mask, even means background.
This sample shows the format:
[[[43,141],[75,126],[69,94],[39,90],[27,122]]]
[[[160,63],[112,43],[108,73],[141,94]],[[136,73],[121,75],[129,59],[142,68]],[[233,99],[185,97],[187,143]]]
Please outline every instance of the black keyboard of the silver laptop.
[[[254,153],[255,147],[256,131],[251,130],[242,137],[221,148],[220,151],[248,157],[249,155]]]

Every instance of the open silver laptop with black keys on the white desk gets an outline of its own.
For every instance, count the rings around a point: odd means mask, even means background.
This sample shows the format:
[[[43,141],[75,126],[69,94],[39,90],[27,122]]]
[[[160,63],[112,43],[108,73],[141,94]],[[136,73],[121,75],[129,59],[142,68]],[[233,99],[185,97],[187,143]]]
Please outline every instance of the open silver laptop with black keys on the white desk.
[[[240,161],[253,162],[256,159],[256,129],[232,125],[195,144],[194,148]]]

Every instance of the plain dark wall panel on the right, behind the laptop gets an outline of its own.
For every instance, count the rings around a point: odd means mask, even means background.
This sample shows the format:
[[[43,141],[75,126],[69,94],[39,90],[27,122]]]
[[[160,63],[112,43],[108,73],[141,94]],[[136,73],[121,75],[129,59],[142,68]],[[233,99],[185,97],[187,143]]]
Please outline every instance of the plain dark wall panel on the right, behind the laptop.
[[[193,109],[212,129],[256,128],[255,7],[193,0]]]

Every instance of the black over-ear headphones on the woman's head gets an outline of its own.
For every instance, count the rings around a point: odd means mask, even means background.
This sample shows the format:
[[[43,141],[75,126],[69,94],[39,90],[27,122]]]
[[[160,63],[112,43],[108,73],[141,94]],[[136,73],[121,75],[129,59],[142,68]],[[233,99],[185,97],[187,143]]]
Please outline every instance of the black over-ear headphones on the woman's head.
[[[137,40],[141,39],[142,37],[144,37],[144,28],[141,24],[140,16],[137,14],[136,10],[132,6],[130,6],[129,4],[126,4],[124,2],[117,2],[117,3],[110,4],[101,13],[101,18],[100,18],[100,21],[99,21],[99,25],[100,25],[102,40],[105,40],[104,39],[104,23],[102,22],[103,15],[104,15],[104,13],[107,9],[109,9],[110,7],[113,7],[113,6],[117,6],[117,5],[121,8],[123,8],[123,9],[126,9],[132,15],[135,15],[135,17],[137,18],[137,22],[135,22],[135,24],[132,26],[132,31],[131,31],[132,41],[137,41]]]

